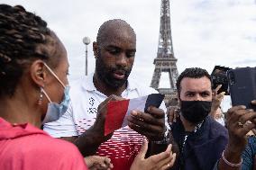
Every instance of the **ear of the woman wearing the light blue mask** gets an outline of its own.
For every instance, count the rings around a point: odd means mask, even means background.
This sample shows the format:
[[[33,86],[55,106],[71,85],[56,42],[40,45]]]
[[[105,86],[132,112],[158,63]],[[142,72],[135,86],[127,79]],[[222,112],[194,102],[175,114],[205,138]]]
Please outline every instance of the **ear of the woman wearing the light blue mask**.
[[[44,62],[41,59],[35,60],[31,67],[30,73],[32,77],[32,81],[38,85],[43,87],[45,85],[46,78],[46,69],[44,67]]]

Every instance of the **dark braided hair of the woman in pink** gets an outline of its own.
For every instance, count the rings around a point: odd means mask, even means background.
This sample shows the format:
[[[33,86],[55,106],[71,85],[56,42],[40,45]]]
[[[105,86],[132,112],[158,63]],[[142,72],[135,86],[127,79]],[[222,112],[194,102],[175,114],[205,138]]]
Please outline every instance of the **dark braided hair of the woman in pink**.
[[[24,69],[35,59],[48,61],[55,53],[56,35],[47,22],[23,6],[0,4],[0,96],[14,95]]]

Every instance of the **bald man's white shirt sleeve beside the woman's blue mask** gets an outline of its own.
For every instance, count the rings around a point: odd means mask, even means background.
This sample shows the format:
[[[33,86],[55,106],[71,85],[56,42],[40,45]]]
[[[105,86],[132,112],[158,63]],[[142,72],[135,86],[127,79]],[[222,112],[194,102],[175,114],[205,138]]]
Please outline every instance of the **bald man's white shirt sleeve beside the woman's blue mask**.
[[[58,121],[45,123],[43,125],[43,130],[48,132],[53,138],[78,136],[78,131],[76,130],[75,122],[73,119],[71,101],[69,102],[69,108],[67,112],[65,112]]]

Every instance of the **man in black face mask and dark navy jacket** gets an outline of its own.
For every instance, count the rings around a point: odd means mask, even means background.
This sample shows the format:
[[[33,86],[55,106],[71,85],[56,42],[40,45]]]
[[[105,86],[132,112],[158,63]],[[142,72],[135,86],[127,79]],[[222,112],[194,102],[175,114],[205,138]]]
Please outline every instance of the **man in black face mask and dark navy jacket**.
[[[187,68],[178,76],[179,119],[171,125],[178,143],[178,162],[173,169],[213,169],[227,143],[227,130],[209,112],[212,104],[211,76],[205,69]]]

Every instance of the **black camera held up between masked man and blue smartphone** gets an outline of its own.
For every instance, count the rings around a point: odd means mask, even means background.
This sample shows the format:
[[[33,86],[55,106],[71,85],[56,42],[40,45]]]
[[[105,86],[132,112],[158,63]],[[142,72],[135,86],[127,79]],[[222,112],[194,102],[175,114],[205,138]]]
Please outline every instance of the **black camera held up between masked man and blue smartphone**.
[[[215,89],[218,85],[222,85],[218,91],[218,94],[224,92],[225,95],[229,95],[228,79],[226,73],[230,69],[230,67],[215,66],[211,74],[213,88]]]

